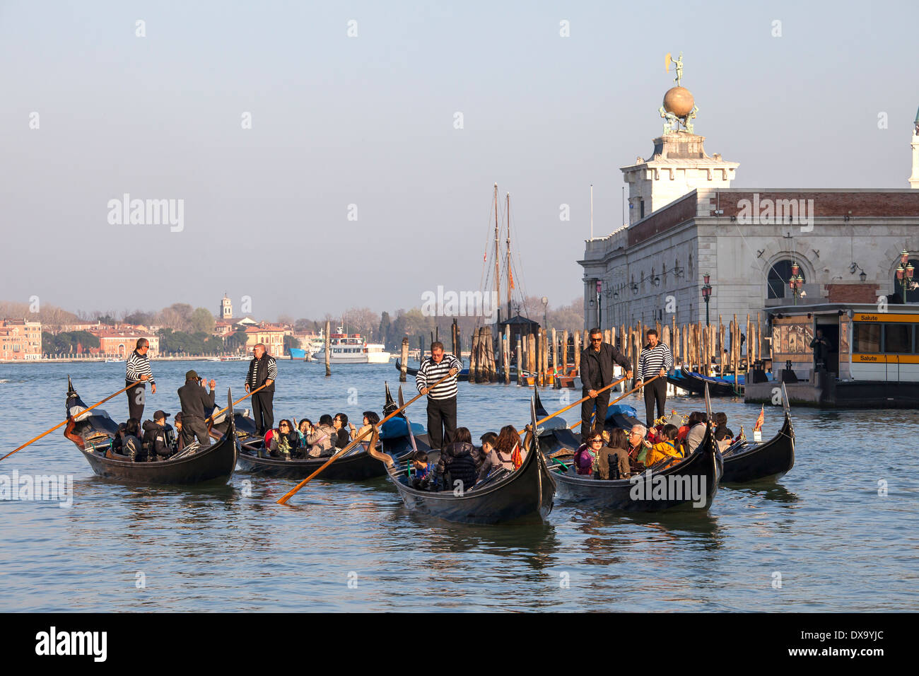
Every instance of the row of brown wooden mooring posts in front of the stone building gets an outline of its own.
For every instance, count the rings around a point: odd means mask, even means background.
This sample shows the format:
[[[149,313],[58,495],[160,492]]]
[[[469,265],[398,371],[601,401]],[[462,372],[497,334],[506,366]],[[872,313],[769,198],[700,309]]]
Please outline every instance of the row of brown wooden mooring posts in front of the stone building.
[[[709,374],[712,366],[718,364],[723,376],[746,372],[749,364],[763,359],[763,326],[759,313],[753,320],[746,315],[745,324],[738,321],[737,315],[724,324],[719,315],[718,324],[708,327],[702,322],[677,327],[675,318],[670,325],[638,322],[634,327],[620,325],[604,329],[603,339],[615,345],[630,361],[632,370],[637,371],[641,349],[647,343],[645,332],[652,327],[670,348],[675,367],[686,365],[692,371]],[[460,354],[461,340],[455,324],[451,340],[453,354]],[[492,335],[492,327],[477,328],[472,332],[470,345],[470,383],[503,381],[509,384],[514,371],[513,380],[517,384],[535,381],[539,385],[550,385],[557,376],[573,376],[580,372],[581,351],[589,345],[589,336],[587,329],[559,331],[553,328],[547,332],[540,328],[526,336],[517,335],[516,345],[512,345],[510,326],[505,325],[496,337]],[[403,363],[407,355],[408,338],[403,338]]]

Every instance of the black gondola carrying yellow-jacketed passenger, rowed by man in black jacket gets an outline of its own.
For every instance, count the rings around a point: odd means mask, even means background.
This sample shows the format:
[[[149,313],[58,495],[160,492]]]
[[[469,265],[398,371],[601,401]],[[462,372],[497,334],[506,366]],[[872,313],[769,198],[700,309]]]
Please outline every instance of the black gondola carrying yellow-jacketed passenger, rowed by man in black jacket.
[[[711,402],[706,395],[711,417]],[[721,454],[710,427],[698,450],[667,464],[664,460],[630,479],[603,480],[578,475],[573,466],[552,468],[562,500],[602,510],[662,511],[673,508],[708,510],[723,471]]]

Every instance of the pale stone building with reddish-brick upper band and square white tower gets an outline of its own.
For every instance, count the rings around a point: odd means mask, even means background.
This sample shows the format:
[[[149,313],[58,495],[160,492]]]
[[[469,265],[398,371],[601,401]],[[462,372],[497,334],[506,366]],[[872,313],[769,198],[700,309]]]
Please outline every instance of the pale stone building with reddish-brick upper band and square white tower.
[[[712,323],[768,321],[788,304],[919,302],[896,274],[904,249],[919,267],[919,190],[736,189],[738,164],[706,155],[704,141],[665,132],[649,159],[621,168],[630,222],[587,240],[578,261],[585,326],[704,323],[706,274]],[[919,188],[919,116],[911,183]]]

